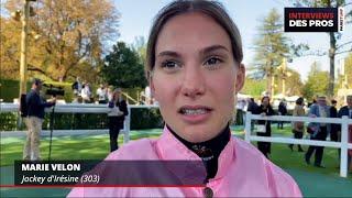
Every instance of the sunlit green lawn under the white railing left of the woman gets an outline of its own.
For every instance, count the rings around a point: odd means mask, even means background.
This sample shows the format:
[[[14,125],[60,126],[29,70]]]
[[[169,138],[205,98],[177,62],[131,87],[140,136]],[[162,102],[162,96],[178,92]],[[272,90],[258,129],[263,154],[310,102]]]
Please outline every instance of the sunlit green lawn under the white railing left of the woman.
[[[157,138],[161,130],[132,131],[130,139]],[[6,138],[0,144],[0,166],[13,165],[15,160],[22,158],[24,138]],[[123,135],[119,136],[119,145],[123,143]],[[48,157],[50,139],[41,140],[41,155]],[[53,138],[52,160],[100,160],[110,152],[109,135],[70,135]]]

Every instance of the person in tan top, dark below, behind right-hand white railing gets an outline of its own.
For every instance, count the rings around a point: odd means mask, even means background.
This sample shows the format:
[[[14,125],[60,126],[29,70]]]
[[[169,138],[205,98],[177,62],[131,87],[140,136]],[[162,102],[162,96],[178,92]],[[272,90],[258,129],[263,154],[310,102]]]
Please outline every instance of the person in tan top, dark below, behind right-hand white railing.
[[[296,106],[295,106],[293,116],[294,117],[306,116],[304,106],[305,106],[305,100],[304,100],[304,98],[299,97],[296,100]],[[293,133],[294,133],[295,139],[302,139],[304,132],[305,132],[305,122],[294,122],[293,123]],[[299,144],[297,146],[298,146],[298,152],[304,152],[304,150],[301,148],[301,146]],[[288,147],[290,148],[290,151],[294,151],[294,144],[289,144]]]

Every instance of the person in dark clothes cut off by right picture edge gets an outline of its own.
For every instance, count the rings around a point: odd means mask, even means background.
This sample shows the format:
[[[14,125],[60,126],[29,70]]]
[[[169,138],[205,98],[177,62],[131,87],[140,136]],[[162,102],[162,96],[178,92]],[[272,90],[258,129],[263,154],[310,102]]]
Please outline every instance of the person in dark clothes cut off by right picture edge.
[[[352,95],[349,95],[346,97],[346,106],[342,107],[339,110],[338,118],[342,118],[343,116],[349,117],[349,119],[352,119]],[[341,129],[339,131],[341,133]],[[352,125],[349,125],[349,133],[348,133],[349,142],[352,143]],[[352,150],[349,150],[348,152],[349,158],[348,158],[348,166],[350,170],[352,172]]]

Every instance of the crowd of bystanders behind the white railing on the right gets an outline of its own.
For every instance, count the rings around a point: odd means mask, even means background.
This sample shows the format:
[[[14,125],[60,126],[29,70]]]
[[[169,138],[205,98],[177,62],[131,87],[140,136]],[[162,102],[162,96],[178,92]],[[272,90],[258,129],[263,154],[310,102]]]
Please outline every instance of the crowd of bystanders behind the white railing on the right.
[[[305,99],[299,97],[296,100],[296,106],[293,110],[294,117],[311,117],[311,118],[342,118],[346,116],[352,119],[352,96],[346,97],[346,106],[341,107],[339,110],[337,109],[337,100],[332,99],[331,105],[328,105],[326,96],[317,96],[316,99],[309,105],[309,110],[306,112],[305,110]],[[273,110],[273,107],[270,102],[270,98],[264,96],[261,100],[261,105],[258,106],[253,98],[250,99],[248,111],[253,114],[262,114],[262,116],[286,116],[287,108],[282,101],[278,106],[277,112]],[[257,121],[256,132],[258,136],[271,136],[272,128],[271,121],[258,120]],[[278,129],[283,129],[283,122],[278,122]],[[305,125],[305,122],[292,122],[292,131],[295,139],[302,139],[305,132],[308,133],[310,140],[326,141],[330,138],[330,141],[340,142],[341,141],[341,125],[334,123],[319,123],[319,122],[309,122]],[[349,128],[349,141],[352,142],[352,127]],[[271,153],[271,143],[270,142],[257,142],[258,150],[268,157]],[[294,151],[294,144],[289,144],[288,147],[290,151]],[[298,152],[305,152],[301,145],[297,145]],[[312,154],[315,154],[314,165],[316,167],[323,168],[322,157],[323,157],[323,148],[324,146],[315,146],[310,145],[305,153],[305,162],[310,164],[310,158]],[[340,155],[340,152],[339,152]],[[351,163],[352,151],[349,151],[349,166],[352,169]]]

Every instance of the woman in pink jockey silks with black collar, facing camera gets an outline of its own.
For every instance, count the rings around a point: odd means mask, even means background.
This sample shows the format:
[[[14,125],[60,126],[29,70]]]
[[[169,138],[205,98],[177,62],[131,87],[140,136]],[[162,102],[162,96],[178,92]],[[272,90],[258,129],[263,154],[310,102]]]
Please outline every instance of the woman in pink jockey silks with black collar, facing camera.
[[[245,69],[239,30],[220,3],[166,6],[153,23],[146,54],[150,87],[166,123],[163,134],[123,145],[107,161],[202,161],[204,186],[76,188],[69,196],[301,196],[288,174],[231,136],[229,122]]]

